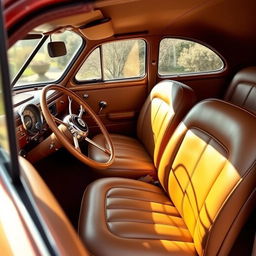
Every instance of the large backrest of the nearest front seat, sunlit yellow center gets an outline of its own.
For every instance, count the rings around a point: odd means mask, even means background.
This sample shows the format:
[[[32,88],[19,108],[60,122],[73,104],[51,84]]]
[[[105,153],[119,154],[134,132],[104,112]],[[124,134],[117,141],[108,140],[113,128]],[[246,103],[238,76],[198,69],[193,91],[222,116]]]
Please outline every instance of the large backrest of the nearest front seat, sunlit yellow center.
[[[253,114],[206,100],[192,108],[166,146],[159,180],[199,255],[227,255],[253,208],[255,130]]]

